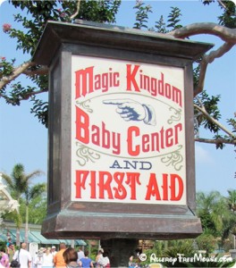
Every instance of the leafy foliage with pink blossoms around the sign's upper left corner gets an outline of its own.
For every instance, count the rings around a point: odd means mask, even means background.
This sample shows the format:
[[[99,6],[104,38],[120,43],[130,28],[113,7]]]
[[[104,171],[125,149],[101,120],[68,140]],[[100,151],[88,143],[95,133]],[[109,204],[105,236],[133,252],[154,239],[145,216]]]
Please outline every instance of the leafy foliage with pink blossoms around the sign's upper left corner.
[[[121,0],[101,0],[101,1],[80,1],[80,12],[72,19],[72,13],[77,10],[78,1],[11,1],[14,7],[20,8],[22,12],[28,14],[26,17],[21,13],[14,16],[14,20],[21,24],[24,30],[13,29],[11,25],[5,23],[4,32],[10,38],[17,40],[16,48],[23,54],[34,54],[38,40],[46,26],[46,21],[67,21],[74,19],[115,22],[115,14],[121,4]],[[4,97],[6,103],[11,105],[21,105],[22,100],[28,100],[33,104],[31,113],[38,117],[38,121],[47,127],[47,100],[39,97],[40,93],[48,90],[48,77],[45,74],[38,74],[40,66],[30,66],[27,70],[31,74],[28,78],[35,86],[24,87],[20,82],[12,83],[12,89],[3,87],[0,96]],[[13,75],[13,60],[7,61],[0,58],[0,80],[5,76]],[[39,89],[37,89],[39,88]]]

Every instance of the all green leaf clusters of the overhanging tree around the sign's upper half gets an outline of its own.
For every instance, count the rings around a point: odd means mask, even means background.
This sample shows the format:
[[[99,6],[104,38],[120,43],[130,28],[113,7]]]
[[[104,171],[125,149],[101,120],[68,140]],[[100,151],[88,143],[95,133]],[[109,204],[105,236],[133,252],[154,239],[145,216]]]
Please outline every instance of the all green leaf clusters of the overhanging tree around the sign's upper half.
[[[13,29],[8,23],[5,23],[3,30],[10,38],[17,40],[17,49],[20,49],[24,54],[33,54],[38,44],[38,39],[46,25],[46,21],[67,21],[72,22],[75,19],[97,21],[103,23],[115,23],[115,15],[118,12],[121,0],[109,1],[11,1],[14,7],[20,8],[22,12],[15,15],[15,21],[22,25],[24,30]],[[203,4],[212,4],[214,1],[203,1]],[[223,14],[218,18],[219,24],[230,29],[236,26],[235,4],[232,1],[218,2],[220,8],[223,9]],[[141,0],[137,0],[134,6],[136,10],[136,22],[134,28],[147,29],[148,15],[152,13],[152,7],[145,4]],[[175,29],[181,29],[181,10],[178,7],[171,7],[166,23],[164,16],[161,15],[159,21],[156,21],[154,28],[160,33],[169,33]],[[197,63],[201,63],[202,58],[198,59]],[[0,60],[0,80],[13,75],[15,71],[13,67],[14,60],[7,61],[4,57]],[[47,75],[40,73],[42,66],[30,65],[25,74],[29,74],[29,79],[34,86],[24,87],[20,82],[13,82],[12,87],[4,86],[1,88],[0,96],[4,97],[5,101],[11,105],[21,105],[22,100],[30,99],[32,102],[31,113],[38,117],[38,121],[47,127],[47,99],[40,98],[40,93],[47,92],[48,78]],[[24,71],[23,71],[24,73]],[[194,70],[194,84],[198,84],[200,68],[196,65]],[[39,89],[38,89],[39,88]],[[199,104],[200,100],[200,104]],[[212,116],[215,121],[221,119],[221,113],[218,105],[220,96],[208,96],[206,91],[198,95],[198,100],[195,100],[196,105],[206,108],[209,116]],[[195,111],[196,115],[196,132],[199,133],[200,126],[210,130],[215,134],[216,148],[223,148],[224,141],[234,144],[234,136],[229,138],[228,135],[223,136],[220,133],[220,126],[215,121],[209,120],[209,117],[204,113]],[[232,126],[235,133],[235,121],[228,119],[228,124]],[[234,137],[234,138],[233,138]]]

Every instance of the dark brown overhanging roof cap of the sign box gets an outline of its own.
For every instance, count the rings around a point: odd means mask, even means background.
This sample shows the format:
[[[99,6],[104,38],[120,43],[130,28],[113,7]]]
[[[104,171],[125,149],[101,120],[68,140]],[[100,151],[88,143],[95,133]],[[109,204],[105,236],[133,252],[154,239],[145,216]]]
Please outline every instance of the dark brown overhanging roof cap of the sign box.
[[[195,60],[213,44],[173,38],[168,34],[92,21],[47,21],[32,61],[49,66],[60,46],[96,46]]]

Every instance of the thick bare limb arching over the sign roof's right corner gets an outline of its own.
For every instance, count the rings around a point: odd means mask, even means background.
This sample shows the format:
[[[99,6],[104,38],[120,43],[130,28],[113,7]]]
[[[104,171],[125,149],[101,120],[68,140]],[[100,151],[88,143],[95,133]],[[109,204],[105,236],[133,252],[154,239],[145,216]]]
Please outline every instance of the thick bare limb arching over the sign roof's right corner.
[[[189,38],[199,34],[210,34],[223,39],[227,43],[236,43],[236,29],[223,27],[214,22],[192,23],[179,29],[174,29],[168,34],[174,38]]]

